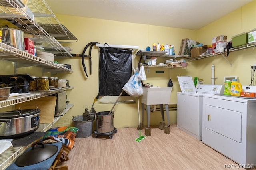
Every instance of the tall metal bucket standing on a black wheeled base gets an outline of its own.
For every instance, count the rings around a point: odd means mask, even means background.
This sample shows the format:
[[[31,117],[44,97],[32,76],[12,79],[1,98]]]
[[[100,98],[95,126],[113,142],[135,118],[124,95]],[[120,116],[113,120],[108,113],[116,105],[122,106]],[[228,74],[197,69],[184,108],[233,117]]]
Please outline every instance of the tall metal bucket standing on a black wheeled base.
[[[109,111],[96,113],[96,131],[108,133],[114,130],[114,113],[108,115]]]

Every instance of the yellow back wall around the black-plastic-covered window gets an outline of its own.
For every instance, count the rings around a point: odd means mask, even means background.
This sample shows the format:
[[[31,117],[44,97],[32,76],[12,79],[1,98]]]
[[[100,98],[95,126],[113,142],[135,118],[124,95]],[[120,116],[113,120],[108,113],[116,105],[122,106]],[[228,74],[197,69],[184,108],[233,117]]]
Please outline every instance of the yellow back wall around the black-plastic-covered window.
[[[58,15],[57,18],[66,26],[77,38],[77,42],[71,44],[63,44],[72,48],[72,53],[82,53],[84,47],[90,42],[108,43],[114,45],[134,45],[139,46],[139,49],[145,50],[147,45],[152,47],[152,43],[159,41],[160,43],[173,44],[178,53],[180,42],[182,38],[196,38],[196,31],[168,28],[160,26],[152,26],[146,24],[134,24],[126,22],[117,22],[112,20],[102,20],[96,18],[84,18],[78,16]],[[138,51],[137,50],[137,51]],[[134,51],[136,53],[137,51]],[[88,51],[86,51],[88,54]],[[140,57],[134,58],[135,67],[138,65]],[[58,59],[59,63],[67,63],[72,65],[72,74],[58,75],[58,77],[68,79],[70,86],[74,86],[72,91],[68,91],[68,100],[74,103],[74,107],[64,115],[57,126],[66,123],[71,123],[72,116],[81,115],[87,107],[89,110],[92,106],[94,98],[98,94],[98,69],[99,69],[99,51],[96,46],[92,49],[92,75],[88,78],[82,68],[82,61],[80,57],[72,59]],[[158,59],[158,62],[162,62]],[[85,59],[87,72],[89,70],[89,61]],[[155,68],[150,68],[150,73],[146,73],[147,80],[144,83],[150,83],[154,86],[167,87],[170,77],[174,83],[170,103],[176,103],[176,92],[180,91],[177,81],[177,75],[187,75],[190,72],[196,74],[195,67],[191,64],[188,69],[161,69],[162,74],[156,74]],[[98,101],[94,104],[94,109],[99,111],[110,111],[113,103],[100,104]],[[136,103],[118,103],[114,113],[114,126],[116,128],[134,127],[138,125],[138,107]],[[145,112],[144,112],[145,113]],[[166,119],[167,120],[167,119]],[[150,123],[152,125],[158,124],[162,121],[159,111],[152,113]],[[170,122],[176,123],[176,111],[170,111]],[[144,124],[146,124],[146,113]]]

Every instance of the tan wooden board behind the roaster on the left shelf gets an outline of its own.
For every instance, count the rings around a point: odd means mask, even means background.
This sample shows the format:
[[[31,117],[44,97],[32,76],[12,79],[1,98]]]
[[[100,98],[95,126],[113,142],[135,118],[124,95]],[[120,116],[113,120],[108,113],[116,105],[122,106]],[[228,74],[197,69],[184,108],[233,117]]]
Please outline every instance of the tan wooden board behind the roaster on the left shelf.
[[[38,109],[41,110],[40,123],[52,123],[54,121],[56,99],[56,96],[46,96],[39,99],[18,103],[15,105],[15,109],[36,108],[36,105],[38,105]]]

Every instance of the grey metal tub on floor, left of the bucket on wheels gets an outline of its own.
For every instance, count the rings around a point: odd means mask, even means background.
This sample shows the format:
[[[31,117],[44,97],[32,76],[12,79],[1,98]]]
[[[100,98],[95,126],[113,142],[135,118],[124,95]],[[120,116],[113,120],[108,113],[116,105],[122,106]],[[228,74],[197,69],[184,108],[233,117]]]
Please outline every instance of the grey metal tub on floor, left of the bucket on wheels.
[[[93,121],[82,121],[83,116],[73,117],[74,127],[78,128],[76,138],[87,138],[92,135]]]

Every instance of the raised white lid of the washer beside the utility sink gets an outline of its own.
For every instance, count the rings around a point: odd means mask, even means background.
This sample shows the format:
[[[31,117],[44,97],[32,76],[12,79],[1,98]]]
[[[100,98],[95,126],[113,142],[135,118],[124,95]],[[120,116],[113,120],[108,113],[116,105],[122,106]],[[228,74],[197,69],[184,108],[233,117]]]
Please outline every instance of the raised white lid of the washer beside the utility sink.
[[[191,76],[177,76],[182,93],[196,93],[196,87]]]

